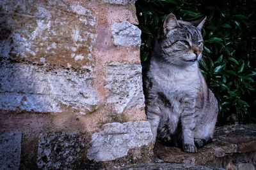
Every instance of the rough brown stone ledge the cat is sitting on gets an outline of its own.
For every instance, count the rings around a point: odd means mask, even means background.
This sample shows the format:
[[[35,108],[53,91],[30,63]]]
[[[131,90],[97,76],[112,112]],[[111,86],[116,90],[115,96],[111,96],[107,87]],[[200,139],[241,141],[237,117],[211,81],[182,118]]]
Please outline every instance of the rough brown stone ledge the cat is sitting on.
[[[156,143],[154,162],[123,169],[256,169],[256,124],[217,127],[212,143],[198,153]]]

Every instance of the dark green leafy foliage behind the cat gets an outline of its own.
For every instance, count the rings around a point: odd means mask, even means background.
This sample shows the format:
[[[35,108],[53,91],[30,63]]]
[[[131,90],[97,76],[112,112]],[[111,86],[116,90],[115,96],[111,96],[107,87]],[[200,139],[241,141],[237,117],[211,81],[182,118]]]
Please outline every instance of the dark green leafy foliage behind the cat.
[[[187,21],[207,15],[202,29],[204,60],[200,68],[218,99],[218,124],[255,123],[255,4],[255,0],[138,0],[143,67],[147,66],[166,15],[172,12]]]

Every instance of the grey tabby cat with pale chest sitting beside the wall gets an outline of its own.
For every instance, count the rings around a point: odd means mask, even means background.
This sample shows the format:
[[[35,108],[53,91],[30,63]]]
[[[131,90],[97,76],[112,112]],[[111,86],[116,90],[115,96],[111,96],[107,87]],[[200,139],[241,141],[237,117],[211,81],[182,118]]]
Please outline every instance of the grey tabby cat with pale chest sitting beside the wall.
[[[186,22],[170,13],[143,76],[154,142],[181,143],[182,150],[191,153],[211,142],[218,116],[218,101],[198,68],[205,20]]]

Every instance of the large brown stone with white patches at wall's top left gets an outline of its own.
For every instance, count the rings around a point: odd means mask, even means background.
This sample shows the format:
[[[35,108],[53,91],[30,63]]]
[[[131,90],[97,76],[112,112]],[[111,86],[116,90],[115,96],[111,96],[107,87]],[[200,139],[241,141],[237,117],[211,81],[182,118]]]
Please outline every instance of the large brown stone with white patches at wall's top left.
[[[76,5],[51,0],[0,1],[0,57],[66,67],[93,67],[96,19],[81,4],[79,1]]]

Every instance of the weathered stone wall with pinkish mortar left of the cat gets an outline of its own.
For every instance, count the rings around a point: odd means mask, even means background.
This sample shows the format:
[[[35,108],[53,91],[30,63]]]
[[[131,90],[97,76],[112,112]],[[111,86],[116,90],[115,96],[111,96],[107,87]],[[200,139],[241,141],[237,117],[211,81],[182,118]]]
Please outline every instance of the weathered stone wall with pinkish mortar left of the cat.
[[[134,0],[0,1],[0,169],[147,162]]]

